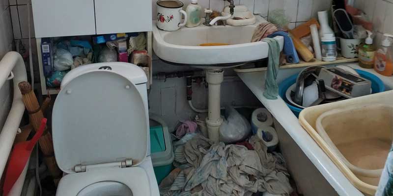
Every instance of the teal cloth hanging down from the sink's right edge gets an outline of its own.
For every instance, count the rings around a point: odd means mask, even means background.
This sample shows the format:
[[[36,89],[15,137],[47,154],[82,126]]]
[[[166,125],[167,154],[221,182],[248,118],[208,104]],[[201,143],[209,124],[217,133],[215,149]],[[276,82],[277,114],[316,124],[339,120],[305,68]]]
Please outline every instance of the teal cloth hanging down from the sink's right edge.
[[[269,62],[267,64],[265,91],[263,92],[263,96],[267,99],[277,99],[279,95],[279,86],[276,79],[280,65],[280,44],[273,38],[264,38],[262,41],[269,44]]]

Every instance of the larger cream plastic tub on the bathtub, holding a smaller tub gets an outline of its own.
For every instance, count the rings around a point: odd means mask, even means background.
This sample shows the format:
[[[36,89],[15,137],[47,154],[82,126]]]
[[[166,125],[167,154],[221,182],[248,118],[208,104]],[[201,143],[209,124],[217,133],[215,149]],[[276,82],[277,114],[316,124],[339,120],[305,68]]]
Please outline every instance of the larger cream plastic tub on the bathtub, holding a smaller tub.
[[[315,142],[324,150],[324,152],[336,164],[337,168],[348,178],[348,180],[356,188],[358,188],[360,191],[362,191],[366,195],[374,195],[375,191],[377,189],[377,186],[370,184],[370,182],[368,182],[364,176],[356,174],[355,171],[351,170],[348,167],[348,165],[345,164],[345,161],[340,158],[340,155],[337,153],[337,149],[335,150],[334,147],[331,147],[332,144],[329,145],[329,142],[328,142],[329,140],[325,141],[324,137],[326,138],[326,135],[321,136],[316,131],[317,130],[317,128],[316,128],[317,127],[316,126],[317,119],[323,113],[328,112],[328,111],[332,111],[335,109],[353,108],[353,107],[356,108],[356,107],[362,107],[365,105],[375,105],[376,108],[378,108],[378,105],[387,105],[386,107],[388,107],[388,108],[392,107],[393,106],[393,91],[387,91],[387,92],[372,94],[372,95],[368,95],[368,96],[364,96],[364,97],[352,98],[352,99],[337,101],[334,103],[327,103],[327,104],[323,104],[323,105],[309,107],[309,108],[304,109],[300,113],[299,122],[306,129],[306,131],[309,133],[309,135],[315,140]],[[346,115],[347,115],[346,119],[347,118],[348,119],[354,118],[354,116],[362,116],[362,115],[365,117],[369,117],[369,115],[370,115],[372,117],[370,119],[378,119],[377,120],[378,123],[379,122],[391,123],[390,125],[386,124],[384,126],[390,126],[390,134],[392,134],[393,120],[391,118],[391,115],[393,115],[393,114],[390,113],[389,115],[387,115],[389,113],[389,109],[388,110],[383,109],[384,111],[387,111],[387,112],[382,112],[381,111],[382,109],[383,108],[380,108],[379,112],[378,112],[378,109],[370,110],[371,113],[359,111],[359,110],[350,110],[349,112],[346,113]],[[392,112],[392,110],[390,110],[390,112]],[[383,114],[385,114],[385,115],[383,115]],[[381,116],[379,116],[377,118],[375,115],[381,115]],[[381,121],[381,118],[384,119],[384,121]],[[340,118],[337,119],[337,122],[338,121],[340,121]],[[375,138],[375,135],[377,135],[375,133],[375,130],[377,130],[376,127],[380,126],[377,122],[368,121],[368,120],[363,119],[363,120],[357,120],[357,123],[358,123],[357,125],[365,126],[365,124],[367,124],[367,125],[369,125],[367,127],[371,127],[371,128],[374,127],[374,129],[365,133],[364,137],[366,139],[373,138],[373,137]],[[354,123],[354,124],[356,125],[356,123]],[[356,129],[358,129],[358,131],[360,130],[360,128],[356,128]],[[325,128],[325,130],[326,130],[326,128]],[[341,130],[344,130],[344,128],[341,128]],[[388,132],[388,131],[386,131],[386,132]],[[329,133],[327,133],[327,135],[329,137]],[[359,132],[352,132],[350,135],[351,135],[351,138],[356,138],[356,137],[358,137],[358,135],[362,135],[362,134],[360,134]],[[347,137],[348,136],[345,136],[344,134],[341,133],[341,135],[338,136],[338,139],[346,139]],[[388,137],[388,136],[385,136],[385,137]],[[332,141],[336,141],[336,140],[338,141],[338,139],[333,139]],[[385,139],[385,140],[392,140],[392,136],[389,136],[388,139]],[[350,140],[346,140],[346,141],[350,141]],[[338,144],[338,143],[336,143],[336,144]],[[365,142],[363,142],[362,144],[365,144]],[[344,144],[344,145],[348,145],[348,144]],[[365,146],[365,145],[361,145],[361,146]],[[384,148],[384,147],[382,147],[382,148]],[[359,152],[360,151],[362,151],[362,149],[359,149]],[[342,153],[342,154],[345,154],[345,153]],[[346,158],[348,159],[348,157],[346,157]],[[385,160],[386,160],[386,157],[385,157]],[[352,165],[354,165],[354,166],[357,165],[356,166],[357,168],[362,168],[362,167],[359,167],[359,164],[352,163]]]

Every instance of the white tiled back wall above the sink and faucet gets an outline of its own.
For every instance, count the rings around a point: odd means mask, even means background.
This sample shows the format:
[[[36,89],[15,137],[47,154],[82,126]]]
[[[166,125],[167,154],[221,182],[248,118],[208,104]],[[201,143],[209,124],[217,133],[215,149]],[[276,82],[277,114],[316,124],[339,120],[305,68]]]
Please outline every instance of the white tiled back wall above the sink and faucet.
[[[187,7],[190,0],[181,0]],[[285,10],[287,18],[290,20],[289,27],[293,28],[303,22],[308,21],[312,17],[316,17],[318,11],[327,10],[330,8],[332,0],[234,0],[236,5],[246,5],[254,14],[260,14],[266,19],[269,17],[269,12],[276,9]],[[153,20],[157,13],[157,0],[152,0],[153,5]],[[226,5],[229,5],[224,0],[199,0],[203,8],[210,8],[217,11],[222,11]]]

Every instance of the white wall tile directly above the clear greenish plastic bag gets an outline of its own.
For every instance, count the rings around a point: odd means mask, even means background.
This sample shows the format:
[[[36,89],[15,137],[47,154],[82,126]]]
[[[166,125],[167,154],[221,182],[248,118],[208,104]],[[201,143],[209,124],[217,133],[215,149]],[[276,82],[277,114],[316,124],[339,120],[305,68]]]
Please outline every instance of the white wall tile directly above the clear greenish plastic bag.
[[[298,2],[298,0],[270,0],[269,13],[281,9],[284,10],[289,22],[296,22]]]

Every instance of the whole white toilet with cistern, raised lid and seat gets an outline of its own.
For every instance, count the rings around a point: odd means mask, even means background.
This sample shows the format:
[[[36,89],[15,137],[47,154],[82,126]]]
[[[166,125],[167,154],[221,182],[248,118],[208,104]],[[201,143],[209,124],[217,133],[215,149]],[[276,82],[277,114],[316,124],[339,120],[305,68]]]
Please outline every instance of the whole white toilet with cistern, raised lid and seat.
[[[63,78],[52,115],[56,196],[159,196],[150,158],[147,78],[129,63],[97,63]]]

